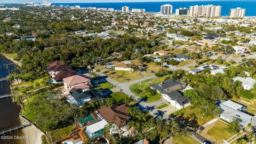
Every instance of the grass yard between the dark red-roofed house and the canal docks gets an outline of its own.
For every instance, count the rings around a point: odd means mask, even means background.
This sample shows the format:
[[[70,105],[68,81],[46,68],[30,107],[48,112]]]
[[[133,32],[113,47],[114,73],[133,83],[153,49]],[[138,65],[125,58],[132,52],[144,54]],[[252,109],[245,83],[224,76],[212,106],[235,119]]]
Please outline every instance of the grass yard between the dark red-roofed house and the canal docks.
[[[16,84],[16,85],[13,86],[13,88],[18,87],[18,89],[19,89],[18,92],[22,93],[26,89],[26,87],[33,86],[34,87],[33,89],[29,89],[29,91],[32,91],[32,90],[38,89],[38,87],[36,86],[36,83],[40,84],[39,88],[46,86],[45,84],[42,83],[43,79],[44,78],[39,78],[39,79],[36,79],[33,82],[24,82],[24,83]]]

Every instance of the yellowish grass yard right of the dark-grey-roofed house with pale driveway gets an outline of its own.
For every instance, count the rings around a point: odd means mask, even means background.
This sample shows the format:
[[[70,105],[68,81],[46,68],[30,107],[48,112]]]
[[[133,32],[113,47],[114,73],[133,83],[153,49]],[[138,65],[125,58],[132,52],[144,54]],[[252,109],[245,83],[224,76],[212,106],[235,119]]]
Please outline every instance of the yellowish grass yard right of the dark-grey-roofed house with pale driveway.
[[[199,109],[197,108],[193,108],[192,106],[183,108],[179,111],[176,111],[175,113],[173,113],[174,115],[182,115],[185,117],[191,116],[191,115],[195,115],[196,116],[196,121],[198,123],[199,126],[202,126],[203,124],[211,121],[211,119],[213,119],[213,117],[211,116],[204,116],[202,117],[202,113],[199,111]]]

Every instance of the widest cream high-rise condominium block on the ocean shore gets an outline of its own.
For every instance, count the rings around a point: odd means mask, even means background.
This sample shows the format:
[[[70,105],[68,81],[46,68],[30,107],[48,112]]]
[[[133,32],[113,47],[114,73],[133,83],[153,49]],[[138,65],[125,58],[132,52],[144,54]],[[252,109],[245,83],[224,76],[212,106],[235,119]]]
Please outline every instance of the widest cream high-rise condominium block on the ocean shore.
[[[220,17],[221,6],[217,5],[195,5],[189,7],[190,17]]]

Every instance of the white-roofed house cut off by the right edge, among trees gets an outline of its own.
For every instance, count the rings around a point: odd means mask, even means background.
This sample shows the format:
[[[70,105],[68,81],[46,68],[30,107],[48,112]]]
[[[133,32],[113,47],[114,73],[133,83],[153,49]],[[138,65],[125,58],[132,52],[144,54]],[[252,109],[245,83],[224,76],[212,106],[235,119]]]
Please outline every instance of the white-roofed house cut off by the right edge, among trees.
[[[250,90],[254,87],[256,81],[255,79],[251,78],[251,77],[235,77],[235,78],[232,78],[232,80],[235,82],[235,81],[239,81],[239,82],[242,82],[242,86],[245,90]]]

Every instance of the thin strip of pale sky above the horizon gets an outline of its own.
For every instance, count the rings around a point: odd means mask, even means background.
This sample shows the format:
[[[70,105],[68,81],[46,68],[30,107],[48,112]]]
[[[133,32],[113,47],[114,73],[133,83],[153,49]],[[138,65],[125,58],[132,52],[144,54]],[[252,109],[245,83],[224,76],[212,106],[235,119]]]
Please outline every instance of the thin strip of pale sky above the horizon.
[[[48,0],[51,3],[95,3],[95,2],[171,2],[171,1],[210,1],[210,0]],[[216,0],[218,1],[218,0]],[[0,3],[42,3],[43,0],[0,0]]]

